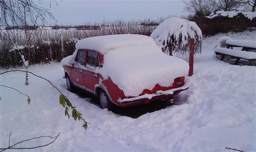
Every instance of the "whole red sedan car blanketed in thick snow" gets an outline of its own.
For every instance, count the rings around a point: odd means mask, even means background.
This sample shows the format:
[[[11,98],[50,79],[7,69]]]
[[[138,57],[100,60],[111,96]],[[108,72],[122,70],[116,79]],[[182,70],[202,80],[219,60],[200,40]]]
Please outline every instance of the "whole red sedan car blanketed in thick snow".
[[[168,56],[151,37],[122,34],[97,36],[76,43],[61,61],[69,90],[83,89],[113,110],[166,99],[188,89],[188,63]]]

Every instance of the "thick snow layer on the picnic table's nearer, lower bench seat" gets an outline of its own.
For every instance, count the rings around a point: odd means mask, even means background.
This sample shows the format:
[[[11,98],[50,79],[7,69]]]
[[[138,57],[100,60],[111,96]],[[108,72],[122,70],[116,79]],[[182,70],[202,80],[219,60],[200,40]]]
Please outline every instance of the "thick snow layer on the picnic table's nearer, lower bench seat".
[[[220,47],[215,48],[214,51],[219,53],[224,53],[230,56],[245,58],[245,59],[256,59],[256,52],[232,50],[232,49],[220,48]]]

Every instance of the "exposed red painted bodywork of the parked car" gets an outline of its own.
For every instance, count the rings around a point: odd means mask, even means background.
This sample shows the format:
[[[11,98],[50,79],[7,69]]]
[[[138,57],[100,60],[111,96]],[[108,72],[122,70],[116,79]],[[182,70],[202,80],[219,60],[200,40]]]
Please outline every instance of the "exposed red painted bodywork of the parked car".
[[[85,66],[87,61],[87,54],[88,54],[87,51],[94,51],[94,50],[87,50],[87,49],[83,49],[83,50],[86,51],[85,64],[84,64]],[[80,50],[78,50],[78,52],[79,51]],[[104,64],[103,55],[99,52],[97,52],[97,59],[99,62],[99,66],[102,66]],[[76,60],[77,60],[77,57],[76,57]],[[149,103],[155,100],[165,99],[167,97],[172,97],[174,95],[177,95],[181,91],[183,91],[183,90],[178,90],[178,91],[175,91],[173,94],[154,96],[150,100],[140,99],[140,100],[132,101],[129,103],[120,103],[118,102],[119,99],[132,98],[132,97],[126,97],[124,95],[124,92],[116,84],[114,84],[114,82],[110,78],[108,78],[107,80],[104,80],[102,75],[98,73],[96,74],[93,69],[89,69],[89,68],[82,69],[74,65],[69,65],[69,66],[65,65],[64,72],[65,72],[65,75],[69,75],[71,83],[74,86],[80,89],[83,89],[84,91],[90,92],[96,96],[98,95],[99,90],[103,89],[108,94],[110,101],[121,107],[135,106],[138,104]],[[99,83],[100,79],[101,81]],[[177,82],[179,83],[177,84]],[[176,78],[173,84],[169,87],[161,87],[157,84],[152,90],[145,89],[140,95],[153,94],[156,91],[160,91],[160,90],[166,91],[168,89],[178,88],[183,85],[184,85],[184,77],[180,77],[180,78]]]

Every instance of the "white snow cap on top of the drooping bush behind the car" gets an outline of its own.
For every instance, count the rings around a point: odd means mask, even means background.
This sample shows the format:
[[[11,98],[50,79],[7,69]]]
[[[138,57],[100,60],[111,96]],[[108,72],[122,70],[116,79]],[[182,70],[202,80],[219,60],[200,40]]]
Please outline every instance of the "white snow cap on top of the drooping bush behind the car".
[[[190,38],[194,38],[196,34],[200,40],[202,38],[202,32],[195,22],[180,19],[178,17],[171,17],[159,24],[150,37],[154,39],[160,48],[165,48],[172,35],[176,41],[181,35],[181,40],[183,45],[185,45],[188,41],[188,36],[190,36]]]

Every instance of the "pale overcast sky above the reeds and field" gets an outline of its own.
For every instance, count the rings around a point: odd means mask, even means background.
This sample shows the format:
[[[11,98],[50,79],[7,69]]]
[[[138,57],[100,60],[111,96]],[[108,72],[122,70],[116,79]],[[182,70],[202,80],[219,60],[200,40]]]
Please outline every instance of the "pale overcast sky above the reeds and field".
[[[50,7],[50,0],[37,1],[38,6]],[[101,22],[113,19],[157,19],[167,15],[184,14],[184,4],[180,0],[144,1],[89,1],[89,0],[52,0],[50,11],[58,20],[58,25],[79,25],[85,22]],[[49,25],[55,24],[48,20]]]

